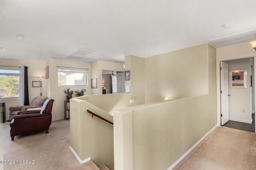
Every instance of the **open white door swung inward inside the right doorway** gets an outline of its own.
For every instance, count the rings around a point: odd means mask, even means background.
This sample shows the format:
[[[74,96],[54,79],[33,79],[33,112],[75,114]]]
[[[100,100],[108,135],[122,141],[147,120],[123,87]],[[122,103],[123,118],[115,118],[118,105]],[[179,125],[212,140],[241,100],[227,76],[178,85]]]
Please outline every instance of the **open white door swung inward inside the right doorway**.
[[[228,117],[228,63],[220,62],[220,90],[221,90],[221,125],[229,120]]]

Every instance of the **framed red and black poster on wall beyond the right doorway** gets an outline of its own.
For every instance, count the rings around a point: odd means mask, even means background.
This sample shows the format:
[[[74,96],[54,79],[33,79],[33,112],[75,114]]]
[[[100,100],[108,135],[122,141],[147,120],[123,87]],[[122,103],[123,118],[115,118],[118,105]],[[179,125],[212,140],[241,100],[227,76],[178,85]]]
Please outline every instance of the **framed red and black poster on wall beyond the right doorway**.
[[[247,88],[247,70],[230,70],[229,87]]]

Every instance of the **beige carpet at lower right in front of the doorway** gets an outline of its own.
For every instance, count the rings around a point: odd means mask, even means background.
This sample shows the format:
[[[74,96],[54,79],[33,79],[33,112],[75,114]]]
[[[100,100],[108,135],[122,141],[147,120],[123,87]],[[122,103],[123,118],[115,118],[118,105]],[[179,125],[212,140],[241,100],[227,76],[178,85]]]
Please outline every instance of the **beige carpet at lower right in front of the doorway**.
[[[256,134],[217,127],[174,170],[256,170]]]

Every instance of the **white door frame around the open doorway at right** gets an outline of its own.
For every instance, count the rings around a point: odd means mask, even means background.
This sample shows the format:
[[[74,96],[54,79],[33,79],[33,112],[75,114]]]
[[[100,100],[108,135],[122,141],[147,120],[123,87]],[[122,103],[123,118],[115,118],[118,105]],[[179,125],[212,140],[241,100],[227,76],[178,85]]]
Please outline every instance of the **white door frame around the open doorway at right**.
[[[221,61],[229,61],[229,60],[236,60],[236,59],[245,59],[245,58],[254,58],[254,66],[256,66],[256,55],[243,55],[243,56],[234,56],[234,57],[228,57],[228,58],[222,58],[222,59],[216,59],[216,99],[217,99],[217,126],[220,126],[220,62]],[[256,69],[254,69],[254,80],[256,80]],[[254,89],[256,89],[255,86],[256,83],[254,83]],[[256,93],[254,93],[254,98],[256,98]],[[256,106],[256,101],[254,101],[254,105]],[[254,113],[255,114],[255,113]],[[256,119],[256,118],[255,118]],[[255,126],[255,133],[256,133],[256,126]]]

